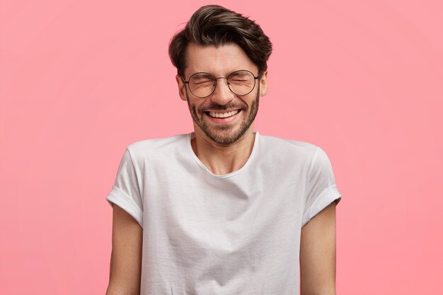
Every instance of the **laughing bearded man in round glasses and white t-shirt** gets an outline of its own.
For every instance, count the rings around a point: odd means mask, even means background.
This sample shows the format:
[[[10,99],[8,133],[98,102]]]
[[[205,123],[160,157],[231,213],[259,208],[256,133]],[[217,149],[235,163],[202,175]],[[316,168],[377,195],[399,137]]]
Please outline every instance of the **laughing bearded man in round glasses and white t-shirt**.
[[[326,153],[253,131],[270,40],[203,6],[169,54],[194,132],[127,147],[108,197],[107,294],[335,294],[335,204]]]

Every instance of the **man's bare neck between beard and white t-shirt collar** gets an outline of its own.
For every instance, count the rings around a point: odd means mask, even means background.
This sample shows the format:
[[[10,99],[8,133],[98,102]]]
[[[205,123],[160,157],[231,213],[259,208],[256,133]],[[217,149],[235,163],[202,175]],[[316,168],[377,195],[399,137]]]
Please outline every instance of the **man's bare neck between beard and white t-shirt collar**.
[[[255,141],[253,125],[234,144],[220,146],[195,129],[191,140],[195,155],[214,175],[225,175],[243,167],[251,156]]]

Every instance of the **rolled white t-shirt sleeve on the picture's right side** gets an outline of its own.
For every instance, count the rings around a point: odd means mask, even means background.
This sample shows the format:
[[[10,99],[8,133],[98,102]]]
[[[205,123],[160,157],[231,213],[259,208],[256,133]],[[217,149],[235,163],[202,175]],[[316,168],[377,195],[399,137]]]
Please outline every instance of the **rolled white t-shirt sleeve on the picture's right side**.
[[[328,155],[318,146],[308,171],[306,192],[302,227],[330,203],[335,201],[338,204],[342,197],[335,185],[335,177]]]

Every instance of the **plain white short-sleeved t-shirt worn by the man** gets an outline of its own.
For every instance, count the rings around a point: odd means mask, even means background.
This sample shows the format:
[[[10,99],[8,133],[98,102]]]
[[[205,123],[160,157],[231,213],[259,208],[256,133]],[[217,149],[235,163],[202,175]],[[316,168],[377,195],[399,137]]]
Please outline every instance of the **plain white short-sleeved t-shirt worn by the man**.
[[[142,295],[299,294],[301,227],[341,195],[323,149],[254,134],[226,175],[193,132],[127,146],[106,199],[143,228]]]

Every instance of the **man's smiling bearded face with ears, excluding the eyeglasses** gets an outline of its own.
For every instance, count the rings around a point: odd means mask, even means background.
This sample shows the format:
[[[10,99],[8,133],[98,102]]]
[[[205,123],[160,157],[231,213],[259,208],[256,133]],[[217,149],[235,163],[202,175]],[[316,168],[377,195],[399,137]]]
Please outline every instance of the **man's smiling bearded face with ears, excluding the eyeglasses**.
[[[258,76],[258,67],[234,43],[219,47],[190,44],[187,53],[185,81],[197,72],[206,72],[218,78],[243,69]],[[180,98],[188,101],[195,132],[222,146],[234,144],[248,130],[252,132],[259,96],[267,92],[266,76],[267,72],[255,81],[253,91],[245,96],[231,92],[226,79],[217,79],[217,88],[206,98],[194,96],[180,76],[176,76]]]

